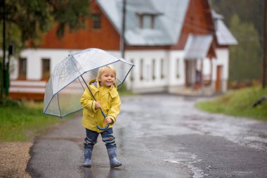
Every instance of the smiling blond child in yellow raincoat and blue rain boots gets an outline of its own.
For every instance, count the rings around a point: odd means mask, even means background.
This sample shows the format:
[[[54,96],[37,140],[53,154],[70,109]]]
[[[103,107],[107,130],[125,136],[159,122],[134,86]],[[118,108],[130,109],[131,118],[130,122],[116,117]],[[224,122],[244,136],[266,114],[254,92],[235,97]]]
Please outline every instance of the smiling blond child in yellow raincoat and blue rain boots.
[[[96,144],[98,134],[108,150],[110,158],[110,167],[121,166],[122,163],[117,160],[117,146],[115,136],[113,136],[112,126],[114,125],[121,106],[117,86],[115,85],[116,70],[111,65],[106,65],[98,69],[97,79],[89,82],[89,87],[96,101],[93,99],[89,89],[84,91],[81,98],[83,106],[82,125],[86,129],[86,138],[84,139],[84,167],[91,167],[91,156],[93,145]],[[100,111],[103,110],[107,117],[103,117]],[[107,124],[110,127],[105,131],[98,129],[96,126],[103,128]]]

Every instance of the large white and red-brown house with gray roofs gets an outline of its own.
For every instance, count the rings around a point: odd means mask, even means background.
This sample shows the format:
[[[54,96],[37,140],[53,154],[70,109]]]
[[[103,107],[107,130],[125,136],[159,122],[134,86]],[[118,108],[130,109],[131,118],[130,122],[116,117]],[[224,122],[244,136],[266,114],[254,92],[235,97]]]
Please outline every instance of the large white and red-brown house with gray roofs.
[[[88,28],[56,37],[56,25],[37,49],[13,61],[11,98],[43,98],[61,60],[81,49],[120,55],[122,0],[92,1]],[[227,91],[229,45],[237,44],[207,0],[127,0],[125,58],[136,67],[127,87],[137,93],[214,94]]]

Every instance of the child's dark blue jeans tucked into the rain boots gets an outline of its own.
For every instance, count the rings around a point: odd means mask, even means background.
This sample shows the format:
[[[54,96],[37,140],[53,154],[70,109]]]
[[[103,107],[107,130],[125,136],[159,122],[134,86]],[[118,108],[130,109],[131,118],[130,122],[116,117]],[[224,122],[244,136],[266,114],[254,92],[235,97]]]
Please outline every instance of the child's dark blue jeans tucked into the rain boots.
[[[91,148],[98,139],[98,132],[86,129],[86,138],[84,139],[84,148]],[[100,133],[105,146],[108,148],[116,148],[115,136],[113,136],[112,128],[106,129]]]

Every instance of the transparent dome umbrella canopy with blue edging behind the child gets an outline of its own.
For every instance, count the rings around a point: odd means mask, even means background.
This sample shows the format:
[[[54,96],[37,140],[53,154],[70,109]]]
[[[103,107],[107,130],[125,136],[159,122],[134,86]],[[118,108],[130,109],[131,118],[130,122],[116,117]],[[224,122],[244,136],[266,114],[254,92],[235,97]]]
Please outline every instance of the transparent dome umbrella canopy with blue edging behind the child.
[[[84,80],[95,79],[98,68],[112,65],[117,70],[115,84],[124,82],[133,64],[101,49],[72,53],[53,69],[44,94],[44,114],[63,117],[82,109],[80,98]]]

